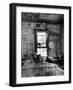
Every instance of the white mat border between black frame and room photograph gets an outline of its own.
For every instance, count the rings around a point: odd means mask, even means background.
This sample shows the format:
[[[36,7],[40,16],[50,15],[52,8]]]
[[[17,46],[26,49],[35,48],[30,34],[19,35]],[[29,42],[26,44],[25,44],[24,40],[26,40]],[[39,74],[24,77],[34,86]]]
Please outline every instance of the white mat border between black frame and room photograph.
[[[64,14],[64,75],[21,77],[21,12]],[[69,81],[69,10],[38,7],[16,7],[16,83]]]

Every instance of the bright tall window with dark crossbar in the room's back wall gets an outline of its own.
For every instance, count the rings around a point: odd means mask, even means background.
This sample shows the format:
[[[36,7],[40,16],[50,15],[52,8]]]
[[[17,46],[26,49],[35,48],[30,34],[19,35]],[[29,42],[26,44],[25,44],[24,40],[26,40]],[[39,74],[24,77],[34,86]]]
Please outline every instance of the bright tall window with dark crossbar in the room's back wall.
[[[47,56],[46,32],[37,32],[37,53]]]

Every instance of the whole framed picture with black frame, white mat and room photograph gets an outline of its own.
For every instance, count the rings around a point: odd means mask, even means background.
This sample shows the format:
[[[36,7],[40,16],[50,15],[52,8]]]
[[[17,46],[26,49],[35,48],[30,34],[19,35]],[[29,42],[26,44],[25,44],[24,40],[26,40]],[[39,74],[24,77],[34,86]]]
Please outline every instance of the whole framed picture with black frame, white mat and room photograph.
[[[10,4],[10,86],[71,83],[71,7]]]

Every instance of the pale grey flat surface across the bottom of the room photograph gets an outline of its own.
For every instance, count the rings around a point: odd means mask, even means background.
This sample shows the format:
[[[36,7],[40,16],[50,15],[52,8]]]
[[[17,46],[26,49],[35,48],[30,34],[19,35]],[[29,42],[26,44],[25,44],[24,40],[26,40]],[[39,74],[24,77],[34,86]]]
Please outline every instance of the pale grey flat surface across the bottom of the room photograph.
[[[22,67],[22,77],[37,77],[37,76],[57,76],[64,75],[58,65],[53,63],[28,63]]]

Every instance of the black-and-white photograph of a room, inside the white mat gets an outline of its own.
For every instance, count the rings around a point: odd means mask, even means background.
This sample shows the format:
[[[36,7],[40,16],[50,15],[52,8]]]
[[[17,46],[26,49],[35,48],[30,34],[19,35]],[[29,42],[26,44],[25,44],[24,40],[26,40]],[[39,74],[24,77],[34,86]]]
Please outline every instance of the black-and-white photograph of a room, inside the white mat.
[[[64,15],[21,13],[21,76],[64,75]]]

